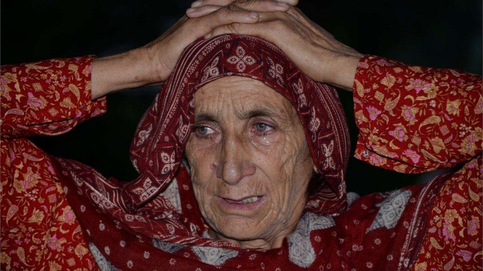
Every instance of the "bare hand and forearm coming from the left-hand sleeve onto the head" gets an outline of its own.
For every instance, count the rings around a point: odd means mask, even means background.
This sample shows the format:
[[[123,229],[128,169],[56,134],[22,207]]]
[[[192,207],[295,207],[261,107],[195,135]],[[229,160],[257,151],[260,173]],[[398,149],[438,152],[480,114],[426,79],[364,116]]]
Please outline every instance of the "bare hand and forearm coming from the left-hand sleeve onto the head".
[[[95,59],[92,66],[92,99],[121,89],[159,84],[168,78],[181,52],[194,40],[224,25],[256,23],[259,20],[257,11],[287,11],[290,5],[286,2],[294,1],[251,1],[250,10],[222,6],[215,12],[196,18],[183,16],[163,35],[141,48]],[[190,9],[187,14],[190,14]]]

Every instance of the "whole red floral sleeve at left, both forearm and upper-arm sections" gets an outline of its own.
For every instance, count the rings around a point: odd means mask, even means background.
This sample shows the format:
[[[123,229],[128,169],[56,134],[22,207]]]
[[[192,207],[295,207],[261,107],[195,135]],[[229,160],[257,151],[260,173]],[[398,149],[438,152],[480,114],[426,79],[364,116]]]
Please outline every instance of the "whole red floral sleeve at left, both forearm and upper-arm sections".
[[[92,57],[1,67],[1,269],[95,269],[52,157],[26,139],[105,111],[91,102]]]

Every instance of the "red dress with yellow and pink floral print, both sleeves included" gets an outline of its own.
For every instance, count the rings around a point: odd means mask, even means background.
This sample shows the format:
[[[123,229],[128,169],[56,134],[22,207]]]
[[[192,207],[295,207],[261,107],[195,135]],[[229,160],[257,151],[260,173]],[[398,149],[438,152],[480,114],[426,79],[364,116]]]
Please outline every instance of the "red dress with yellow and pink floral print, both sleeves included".
[[[97,268],[64,195],[66,187],[57,178],[62,169],[52,166],[54,158],[26,139],[67,132],[105,112],[105,99],[91,101],[91,61],[92,57],[81,57],[1,67],[2,270]],[[431,192],[435,200],[424,206],[426,225],[402,225],[426,232],[421,240],[407,239],[418,242],[420,252],[403,267],[481,267],[482,108],[481,77],[375,56],[359,63],[354,81],[360,130],[356,158],[404,173],[462,165],[437,178],[442,181]],[[368,215],[374,198],[369,196],[359,198],[338,218],[350,224],[347,232],[354,229],[353,239],[359,234],[365,240],[364,234],[375,225],[374,216]],[[376,249],[390,240],[372,242],[371,249]],[[369,247],[367,242],[364,246]],[[355,257],[373,250],[353,245],[350,251]],[[389,256],[383,261],[396,260]],[[377,263],[354,266],[372,269]]]

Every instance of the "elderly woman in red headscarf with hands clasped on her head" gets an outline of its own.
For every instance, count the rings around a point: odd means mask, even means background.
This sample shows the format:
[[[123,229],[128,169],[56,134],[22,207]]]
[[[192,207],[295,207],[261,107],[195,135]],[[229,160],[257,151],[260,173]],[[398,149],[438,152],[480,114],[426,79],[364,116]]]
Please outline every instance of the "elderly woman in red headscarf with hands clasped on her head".
[[[363,56],[286,4],[223,4],[196,1],[193,19],[126,54],[2,67],[2,268],[476,269],[482,79]],[[26,139],[160,81],[127,185]],[[357,158],[406,173],[464,165],[346,194],[346,120],[324,83],[355,90]]]

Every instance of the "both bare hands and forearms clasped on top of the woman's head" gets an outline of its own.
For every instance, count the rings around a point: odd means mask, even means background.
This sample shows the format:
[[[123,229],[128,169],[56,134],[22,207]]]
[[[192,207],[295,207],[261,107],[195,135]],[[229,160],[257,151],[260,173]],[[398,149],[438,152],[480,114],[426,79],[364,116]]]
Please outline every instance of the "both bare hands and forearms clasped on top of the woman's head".
[[[194,40],[236,33],[277,45],[315,81],[352,90],[362,57],[309,20],[297,0],[197,0],[175,25],[149,44],[93,62],[92,98],[167,79]],[[300,49],[303,48],[303,49]]]

